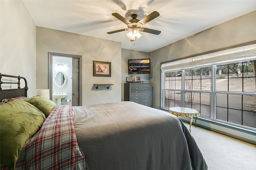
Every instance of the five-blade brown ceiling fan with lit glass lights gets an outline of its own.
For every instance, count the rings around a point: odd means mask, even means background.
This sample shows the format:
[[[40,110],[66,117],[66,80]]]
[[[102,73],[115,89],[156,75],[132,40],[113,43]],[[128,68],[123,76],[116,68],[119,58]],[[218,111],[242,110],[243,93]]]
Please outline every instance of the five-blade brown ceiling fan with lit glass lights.
[[[128,26],[128,28],[118,29],[116,31],[110,31],[110,32],[108,32],[108,34],[118,33],[121,31],[127,31],[127,30],[131,29],[132,31],[130,33],[128,33],[127,36],[130,38],[130,41],[135,41],[136,38],[138,39],[141,36],[141,34],[138,31],[143,31],[143,32],[152,33],[152,34],[156,34],[156,35],[159,35],[161,33],[161,31],[158,31],[155,29],[149,29],[149,28],[142,27],[142,25],[145,25],[149,21],[160,16],[160,14],[156,11],[152,12],[151,14],[149,14],[142,20],[137,19],[137,14],[132,14],[132,19],[129,21],[126,20],[126,18],[122,17],[118,13],[113,13],[112,16],[116,17],[118,20],[125,23]]]

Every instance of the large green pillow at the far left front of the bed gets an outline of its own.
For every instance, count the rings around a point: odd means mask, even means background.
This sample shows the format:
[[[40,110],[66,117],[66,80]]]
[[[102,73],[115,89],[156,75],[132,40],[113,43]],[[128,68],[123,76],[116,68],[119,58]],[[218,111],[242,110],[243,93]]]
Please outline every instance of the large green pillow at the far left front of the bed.
[[[39,109],[19,99],[0,105],[0,112],[0,162],[15,169],[23,145],[46,117]]]

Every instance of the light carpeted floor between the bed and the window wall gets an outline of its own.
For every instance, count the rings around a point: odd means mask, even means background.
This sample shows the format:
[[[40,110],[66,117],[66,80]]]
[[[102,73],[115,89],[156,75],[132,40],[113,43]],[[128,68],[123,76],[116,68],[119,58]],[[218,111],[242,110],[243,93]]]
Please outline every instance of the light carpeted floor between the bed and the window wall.
[[[184,124],[189,129],[189,124]],[[191,134],[204,155],[208,170],[256,170],[256,145],[194,125]]]

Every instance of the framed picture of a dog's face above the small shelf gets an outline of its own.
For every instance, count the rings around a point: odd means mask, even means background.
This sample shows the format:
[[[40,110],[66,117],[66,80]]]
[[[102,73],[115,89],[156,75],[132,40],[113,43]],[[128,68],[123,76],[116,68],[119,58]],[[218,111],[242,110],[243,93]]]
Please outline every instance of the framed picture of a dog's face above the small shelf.
[[[93,76],[111,77],[111,63],[93,61]]]

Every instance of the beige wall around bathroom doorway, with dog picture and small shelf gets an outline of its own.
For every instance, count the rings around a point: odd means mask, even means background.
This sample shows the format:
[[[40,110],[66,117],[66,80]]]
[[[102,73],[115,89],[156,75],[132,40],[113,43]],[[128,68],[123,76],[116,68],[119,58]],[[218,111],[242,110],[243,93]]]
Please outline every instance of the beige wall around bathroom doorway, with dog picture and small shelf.
[[[121,43],[36,27],[36,88],[48,88],[48,52],[82,55],[82,105],[121,101]],[[111,62],[111,77],[93,76],[93,61]],[[109,90],[93,84],[114,84]]]

